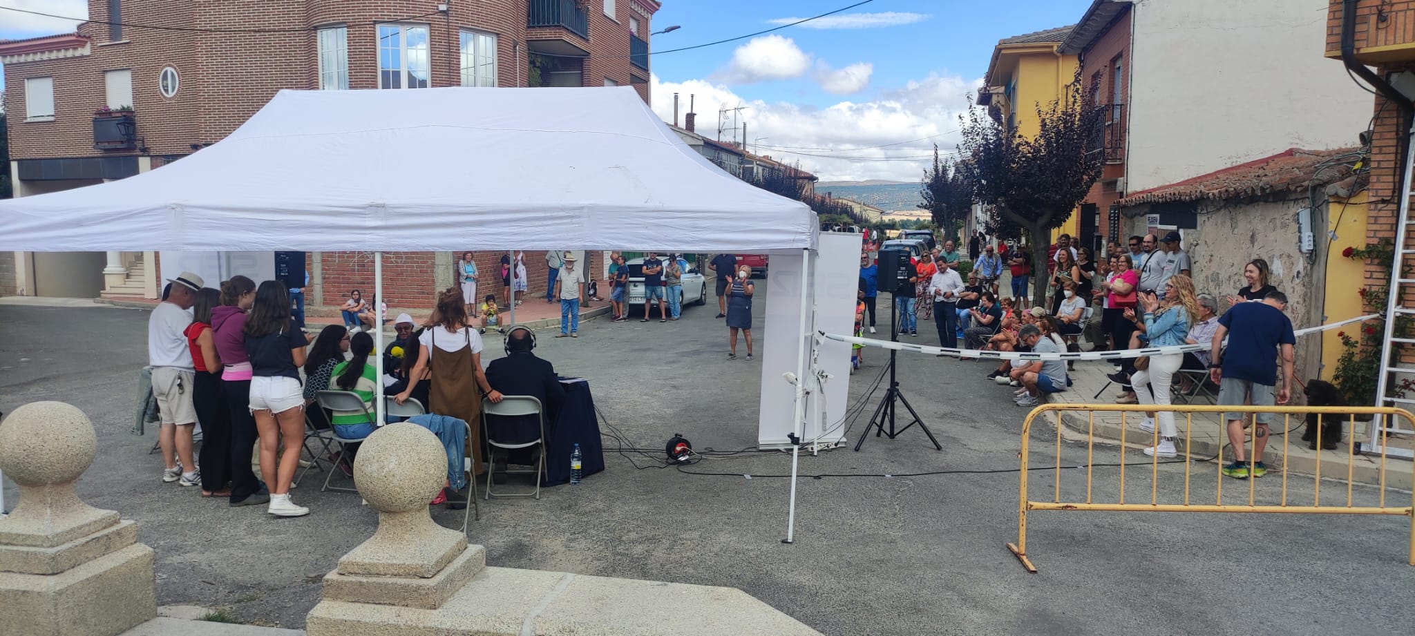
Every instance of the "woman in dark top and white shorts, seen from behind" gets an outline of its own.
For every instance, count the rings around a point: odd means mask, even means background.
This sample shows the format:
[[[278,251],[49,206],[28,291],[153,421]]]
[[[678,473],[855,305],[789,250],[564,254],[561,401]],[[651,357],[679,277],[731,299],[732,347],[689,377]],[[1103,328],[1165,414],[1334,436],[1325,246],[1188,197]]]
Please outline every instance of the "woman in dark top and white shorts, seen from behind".
[[[246,318],[243,345],[250,356],[250,413],[260,431],[260,476],[270,488],[267,512],[280,517],[310,513],[290,500],[290,482],[304,448],[300,367],[304,366],[306,343],[304,332],[290,317],[286,285],[273,280],[260,283]],[[277,462],[280,435],[284,435],[284,452]]]

